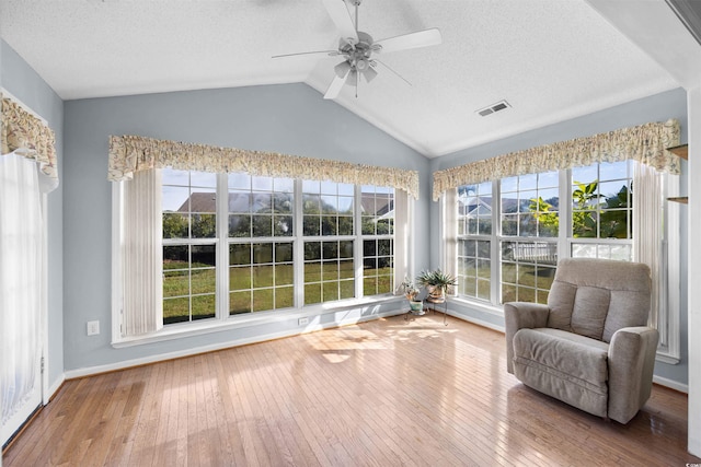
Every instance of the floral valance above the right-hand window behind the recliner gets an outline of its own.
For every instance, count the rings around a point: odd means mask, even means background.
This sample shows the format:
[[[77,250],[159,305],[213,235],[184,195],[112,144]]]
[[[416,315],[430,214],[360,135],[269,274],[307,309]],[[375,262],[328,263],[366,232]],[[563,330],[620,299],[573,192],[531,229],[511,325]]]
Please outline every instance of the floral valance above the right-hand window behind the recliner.
[[[679,144],[679,133],[677,120],[652,122],[446,168],[434,173],[433,199],[467,184],[627,159],[678,174],[679,159],[666,149]]]

